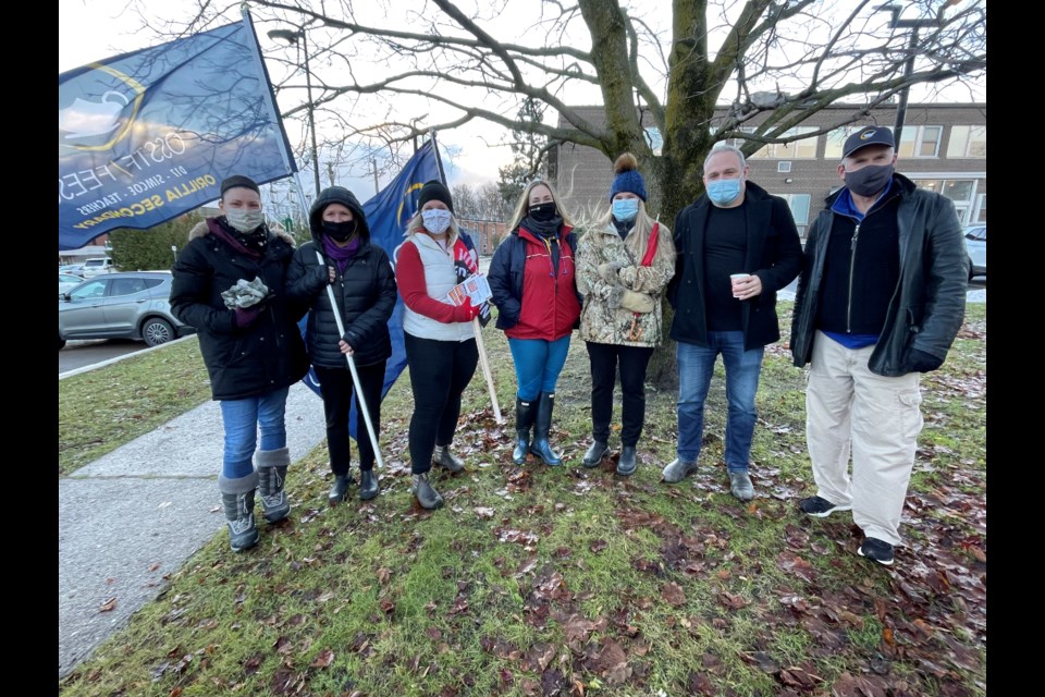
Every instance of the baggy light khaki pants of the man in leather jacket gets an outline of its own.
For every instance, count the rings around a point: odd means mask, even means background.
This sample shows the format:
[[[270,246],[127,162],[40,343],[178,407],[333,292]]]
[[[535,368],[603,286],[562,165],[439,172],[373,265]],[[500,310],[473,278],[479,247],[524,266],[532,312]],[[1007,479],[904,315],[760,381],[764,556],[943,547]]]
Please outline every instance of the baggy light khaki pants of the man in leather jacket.
[[[816,496],[852,505],[852,521],[865,536],[895,546],[901,541],[900,514],[922,430],[922,395],[917,372],[898,378],[871,372],[872,351],[846,348],[816,332],[806,440]]]

